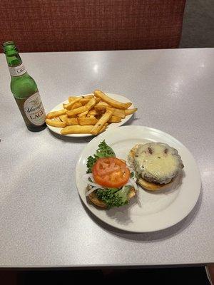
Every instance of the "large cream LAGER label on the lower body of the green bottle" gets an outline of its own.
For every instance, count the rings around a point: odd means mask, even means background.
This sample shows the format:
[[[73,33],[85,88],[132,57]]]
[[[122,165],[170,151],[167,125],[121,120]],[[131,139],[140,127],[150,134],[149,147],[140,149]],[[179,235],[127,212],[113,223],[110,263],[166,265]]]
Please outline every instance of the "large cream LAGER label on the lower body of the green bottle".
[[[24,102],[24,113],[34,125],[43,125],[46,120],[46,113],[41,102],[39,92],[29,96]]]

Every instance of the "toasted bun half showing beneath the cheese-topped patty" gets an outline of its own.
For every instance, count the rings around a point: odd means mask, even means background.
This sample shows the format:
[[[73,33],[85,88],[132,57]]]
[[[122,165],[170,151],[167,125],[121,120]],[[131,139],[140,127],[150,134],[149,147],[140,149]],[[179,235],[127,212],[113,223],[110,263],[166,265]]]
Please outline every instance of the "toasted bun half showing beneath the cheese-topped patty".
[[[140,145],[135,145],[132,147],[132,149],[129,152],[129,162],[131,162],[131,166],[134,167],[133,165],[133,159],[136,155],[136,150],[138,149]],[[137,180],[138,185],[143,187],[144,189],[148,191],[158,191],[158,190],[165,190],[168,188],[169,185],[173,183],[173,180],[171,180],[167,184],[160,184],[160,183],[154,183],[154,182],[148,182],[147,180],[143,179],[142,177],[138,178]]]

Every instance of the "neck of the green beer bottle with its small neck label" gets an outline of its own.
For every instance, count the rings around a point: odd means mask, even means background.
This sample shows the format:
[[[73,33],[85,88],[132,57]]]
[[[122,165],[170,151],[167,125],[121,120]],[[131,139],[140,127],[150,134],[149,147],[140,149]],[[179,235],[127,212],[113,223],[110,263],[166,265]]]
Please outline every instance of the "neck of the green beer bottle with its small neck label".
[[[15,44],[13,42],[6,42],[3,44],[3,48],[11,76],[17,77],[26,73],[26,69],[21,61],[21,57],[19,56]]]

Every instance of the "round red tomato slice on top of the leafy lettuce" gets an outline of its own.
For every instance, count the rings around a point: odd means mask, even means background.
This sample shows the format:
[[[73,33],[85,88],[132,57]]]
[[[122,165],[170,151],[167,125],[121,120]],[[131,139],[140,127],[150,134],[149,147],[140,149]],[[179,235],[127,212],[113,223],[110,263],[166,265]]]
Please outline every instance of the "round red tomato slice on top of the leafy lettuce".
[[[122,187],[130,177],[126,162],[116,157],[99,158],[92,167],[92,173],[97,184],[111,188]]]

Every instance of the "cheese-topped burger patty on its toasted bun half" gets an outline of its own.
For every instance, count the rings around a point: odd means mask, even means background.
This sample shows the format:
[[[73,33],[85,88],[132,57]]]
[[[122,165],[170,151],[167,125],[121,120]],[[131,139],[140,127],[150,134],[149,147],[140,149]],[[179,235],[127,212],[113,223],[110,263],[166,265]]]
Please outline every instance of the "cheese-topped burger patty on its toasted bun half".
[[[135,145],[128,153],[128,163],[138,185],[149,191],[168,188],[184,167],[178,150],[162,142]]]

